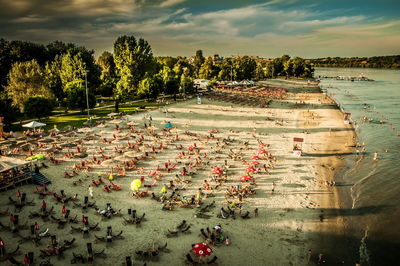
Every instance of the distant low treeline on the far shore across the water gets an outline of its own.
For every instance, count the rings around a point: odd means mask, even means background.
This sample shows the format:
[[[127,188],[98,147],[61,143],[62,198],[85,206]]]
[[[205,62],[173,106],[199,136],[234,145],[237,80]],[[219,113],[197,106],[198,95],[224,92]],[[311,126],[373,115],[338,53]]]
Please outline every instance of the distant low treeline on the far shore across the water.
[[[361,67],[400,69],[400,55],[373,57],[326,57],[308,59],[314,67]]]

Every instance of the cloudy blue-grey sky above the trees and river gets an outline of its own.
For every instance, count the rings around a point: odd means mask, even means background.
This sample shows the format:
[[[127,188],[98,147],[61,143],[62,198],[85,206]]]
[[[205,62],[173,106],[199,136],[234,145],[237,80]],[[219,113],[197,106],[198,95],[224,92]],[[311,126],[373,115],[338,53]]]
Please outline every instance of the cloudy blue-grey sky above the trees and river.
[[[0,0],[0,38],[112,52],[118,36],[158,56],[400,54],[400,0]]]

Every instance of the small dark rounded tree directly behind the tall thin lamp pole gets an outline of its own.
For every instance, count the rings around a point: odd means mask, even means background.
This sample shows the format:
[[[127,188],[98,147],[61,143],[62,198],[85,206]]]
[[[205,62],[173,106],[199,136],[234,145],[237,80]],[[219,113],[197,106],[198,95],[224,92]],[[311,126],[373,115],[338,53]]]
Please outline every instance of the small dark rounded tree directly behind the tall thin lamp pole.
[[[96,105],[96,97],[93,92],[89,91],[89,108],[93,108]],[[66,104],[69,108],[79,108],[83,110],[87,107],[86,103],[86,88],[79,83],[69,83],[67,89]]]

